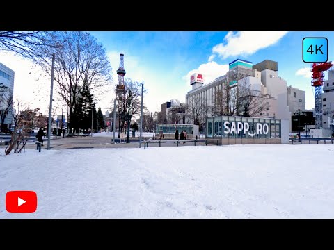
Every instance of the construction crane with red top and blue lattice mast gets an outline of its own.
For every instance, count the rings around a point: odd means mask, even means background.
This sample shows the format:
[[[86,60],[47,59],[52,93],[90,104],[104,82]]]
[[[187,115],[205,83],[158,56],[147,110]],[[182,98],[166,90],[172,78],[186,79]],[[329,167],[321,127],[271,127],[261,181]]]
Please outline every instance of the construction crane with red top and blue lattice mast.
[[[315,128],[322,128],[322,86],[324,85],[324,71],[333,66],[332,62],[312,64],[312,87],[315,87]]]

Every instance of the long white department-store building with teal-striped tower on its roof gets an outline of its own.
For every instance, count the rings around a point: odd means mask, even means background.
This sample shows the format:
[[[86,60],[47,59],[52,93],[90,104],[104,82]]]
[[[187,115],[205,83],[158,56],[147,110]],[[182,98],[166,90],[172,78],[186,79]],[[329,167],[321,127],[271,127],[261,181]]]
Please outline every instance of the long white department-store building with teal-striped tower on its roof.
[[[190,83],[194,85],[192,78]],[[241,85],[246,86],[245,89],[251,90],[251,93],[245,92],[244,97],[241,97]],[[197,84],[196,88],[193,87],[186,94],[186,106],[190,107],[186,110],[186,123],[192,124],[197,119],[199,124],[204,125],[206,117],[242,114],[245,112],[241,110],[244,104],[239,105],[239,108],[232,106],[237,103],[237,99],[243,103],[241,98],[247,100],[246,97],[252,96],[259,99],[258,106],[261,108],[257,112],[258,107],[252,107],[251,116],[289,120],[291,131],[287,82],[278,76],[278,63],[272,60],[253,65],[250,61],[237,59],[229,64],[229,71],[224,76],[207,84]]]

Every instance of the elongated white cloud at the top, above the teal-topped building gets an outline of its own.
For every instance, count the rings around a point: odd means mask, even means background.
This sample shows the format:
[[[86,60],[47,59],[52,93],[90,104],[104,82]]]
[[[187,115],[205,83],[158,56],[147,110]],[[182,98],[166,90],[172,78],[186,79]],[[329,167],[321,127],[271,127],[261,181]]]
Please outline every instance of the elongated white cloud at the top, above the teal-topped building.
[[[225,35],[224,42],[213,47],[212,53],[218,54],[222,59],[229,56],[247,56],[260,49],[276,44],[287,31],[230,31]],[[209,57],[209,60],[212,56]]]

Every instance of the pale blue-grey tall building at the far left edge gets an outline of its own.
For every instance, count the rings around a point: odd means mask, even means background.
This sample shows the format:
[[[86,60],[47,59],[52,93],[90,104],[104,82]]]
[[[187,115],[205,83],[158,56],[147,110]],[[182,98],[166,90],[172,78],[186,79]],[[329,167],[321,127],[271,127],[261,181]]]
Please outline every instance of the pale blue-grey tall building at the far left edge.
[[[8,97],[13,97],[14,92],[14,76],[15,72],[7,67],[6,65],[3,65],[0,63],[0,112],[3,113],[4,110],[6,110],[7,106],[6,101],[8,100]],[[7,101],[8,103],[8,101]],[[2,116],[1,116],[2,117]],[[2,124],[2,119],[0,117],[0,124]],[[6,118],[4,119],[4,128],[9,128],[13,124],[13,103],[10,104],[9,113],[6,115]]]

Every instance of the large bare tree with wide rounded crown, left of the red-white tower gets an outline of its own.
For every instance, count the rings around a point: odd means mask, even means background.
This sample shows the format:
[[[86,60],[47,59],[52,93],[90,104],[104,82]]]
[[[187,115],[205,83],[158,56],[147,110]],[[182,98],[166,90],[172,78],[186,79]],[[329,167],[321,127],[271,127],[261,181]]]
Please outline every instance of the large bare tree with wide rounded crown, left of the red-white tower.
[[[67,103],[70,119],[80,91],[85,87],[95,97],[111,83],[111,65],[106,49],[90,33],[52,32],[45,37],[49,47],[38,47],[38,53],[49,60],[35,60],[51,76],[51,55],[54,53],[56,92]]]

